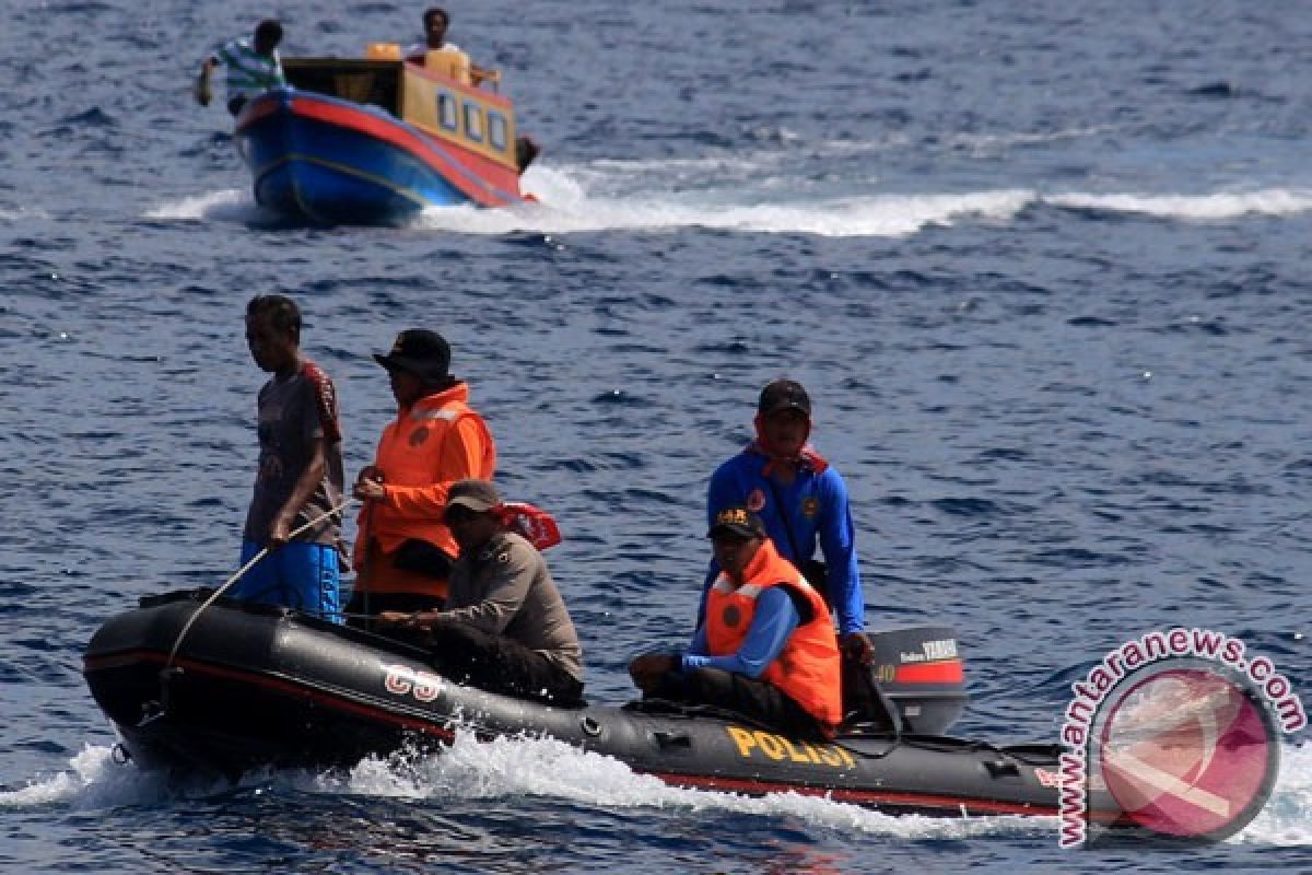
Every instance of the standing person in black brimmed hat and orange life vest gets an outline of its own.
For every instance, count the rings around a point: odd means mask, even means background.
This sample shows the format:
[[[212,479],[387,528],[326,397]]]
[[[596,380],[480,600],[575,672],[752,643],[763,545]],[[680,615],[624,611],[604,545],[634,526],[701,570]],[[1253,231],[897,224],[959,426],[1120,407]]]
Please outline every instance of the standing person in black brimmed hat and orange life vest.
[[[470,387],[449,373],[451,350],[433,331],[403,331],[386,356],[396,420],[374,463],[356,479],[365,502],[356,538],[356,590],[346,611],[440,610],[458,547],[442,522],[457,480],[491,479],[496,445],[470,405]]]

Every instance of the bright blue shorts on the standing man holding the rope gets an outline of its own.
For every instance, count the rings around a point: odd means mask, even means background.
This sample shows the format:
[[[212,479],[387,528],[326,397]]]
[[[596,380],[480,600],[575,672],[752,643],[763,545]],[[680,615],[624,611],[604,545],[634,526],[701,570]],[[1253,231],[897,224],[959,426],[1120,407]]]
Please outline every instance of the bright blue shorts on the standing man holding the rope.
[[[241,542],[241,564],[251,561],[260,544]],[[293,540],[257,561],[227,592],[232,598],[264,605],[282,605],[320,619],[341,623],[341,571],[337,548]]]

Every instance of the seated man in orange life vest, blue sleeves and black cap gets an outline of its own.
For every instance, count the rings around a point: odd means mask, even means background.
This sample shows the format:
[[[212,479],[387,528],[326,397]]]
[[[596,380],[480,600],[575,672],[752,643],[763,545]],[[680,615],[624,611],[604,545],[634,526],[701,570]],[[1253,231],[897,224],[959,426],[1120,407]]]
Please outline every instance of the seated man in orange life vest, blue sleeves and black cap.
[[[686,653],[644,653],[628,665],[646,697],[711,704],[785,732],[832,737],[842,722],[838,641],[829,610],[779,556],[747,508],[711,525],[720,575],[703,597]]]

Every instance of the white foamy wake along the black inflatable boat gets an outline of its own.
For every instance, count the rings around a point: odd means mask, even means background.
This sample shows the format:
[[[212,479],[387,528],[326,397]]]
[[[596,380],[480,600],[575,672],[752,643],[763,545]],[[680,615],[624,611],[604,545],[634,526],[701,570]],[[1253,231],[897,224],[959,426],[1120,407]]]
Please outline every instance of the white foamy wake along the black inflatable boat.
[[[1275,791],[1266,808],[1231,842],[1312,846],[1312,745],[1286,746]],[[227,792],[223,782],[177,783],[121,765],[108,746],[88,745],[70,761],[71,771],[39,778],[18,790],[0,791],[0,809],[63,805],[87,811],[121,805],[155,805],[174,799]],[[770,794],[753,798],[684,790],[634,773],[611,757],[586,753],[548,739],[496,739],[479,743],[459,733],[440,756],[370,757],[349,771],[268,771],[243,784],[272,784],[290,792],[374,796],[446,804],[468,799],[533,796],[602,808],[660,808],[791,817],[838,832],[900,838],[970,838],[984,836],[1056,836],[1056,819],[946,819],[882,815],[816,796]]]

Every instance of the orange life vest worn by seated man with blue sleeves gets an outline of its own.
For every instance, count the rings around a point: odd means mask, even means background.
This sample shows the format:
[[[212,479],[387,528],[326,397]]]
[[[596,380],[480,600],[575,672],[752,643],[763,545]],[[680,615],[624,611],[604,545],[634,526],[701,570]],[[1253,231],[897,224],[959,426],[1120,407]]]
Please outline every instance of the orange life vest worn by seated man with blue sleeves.
[[[789,636],[787,643],[761,680],[783,690],[789,698],[828,729],[842,722],[842,681],[838,640],[829,609],[811,584],[769,539],[748,564],[745,582],[735,586],[722,572],[706,596],[706,647],[711,656],[736,653],[747,640],[756,614],[756,600],[771,586],[789,586],[811,605],[811,619]]]

